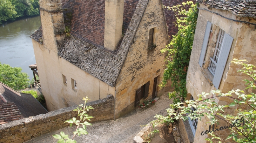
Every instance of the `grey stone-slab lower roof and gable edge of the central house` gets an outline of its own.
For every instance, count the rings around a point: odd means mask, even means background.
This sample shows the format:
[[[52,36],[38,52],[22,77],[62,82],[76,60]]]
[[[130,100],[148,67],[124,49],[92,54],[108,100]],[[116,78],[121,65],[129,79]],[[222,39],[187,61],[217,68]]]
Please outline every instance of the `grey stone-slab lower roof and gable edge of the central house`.
[[[58,53],[58,55],[63,59],[69,61],[73,65],[79,67],[80,69],[86,71],[90,75],[100,79],[112,87],[115,86],[115,80],[121,69],[123,61],[126,58],[126,54],[135,36],[136,30],[139,27],[139,23],[144,10],[146,9],[148,0],[126,0],[124,2],[124,6],[126,8],[124,10],[124,15],[126,15],[126,17],[124,16],[124,27],[127,29],[124,29],[124,37],[115,53],[107,52],[100,46],[92,45],[94,43],[85,40],[85,38],[82,36],[78,36],[77,33],[76,35],[72,34],[73,36],[70,36],[70,38],[67,38],[63,42]],[[92,21],[94,21],[94,19],[92,19]],[[82,26],[85,25],[80,25],[80,28],[82,28]],[[83,29],[80,30],[81,33],[86,32]],[[83,35],[81,33],[80,35]],[[101,36],[101,34],[103,36]],[[84,36],[86,35],[84,34]],[[97,35],[96,37],[100,37],[101,41],[103,42],[104,30],[99,36]]]

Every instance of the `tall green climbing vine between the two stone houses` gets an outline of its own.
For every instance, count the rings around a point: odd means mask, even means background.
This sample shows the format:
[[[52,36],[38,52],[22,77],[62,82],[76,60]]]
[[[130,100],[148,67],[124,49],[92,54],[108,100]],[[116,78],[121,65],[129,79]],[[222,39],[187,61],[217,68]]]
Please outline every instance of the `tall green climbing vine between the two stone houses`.
[[[173,36],[170,44],[161,50],[162,53],[167,52],[168,54],[164,60],[167,63],[167,68],[164,70],[159,86],[163,88],[169,80],[172,82],[174,92],[169,93],[169,97],[173,99],[174,103],[180,102],[182,97],[187,95],[186,76],[198,15],[196,5],[192,1],[188,1],[173,7],[164,6],[168,10],[174,11],[178,33]],[[185,6],[190,6],[190,8],[186,10]]]

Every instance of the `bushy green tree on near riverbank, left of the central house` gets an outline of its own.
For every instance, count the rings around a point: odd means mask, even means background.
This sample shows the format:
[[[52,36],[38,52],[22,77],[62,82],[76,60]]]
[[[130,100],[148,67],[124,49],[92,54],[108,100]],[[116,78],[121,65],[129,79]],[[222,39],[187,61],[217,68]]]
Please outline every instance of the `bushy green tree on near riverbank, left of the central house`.
[[[21,72],[20,67],[11,67],[0,62],[0,81],[14,90],[25,89],[29,78],[27,73]]]

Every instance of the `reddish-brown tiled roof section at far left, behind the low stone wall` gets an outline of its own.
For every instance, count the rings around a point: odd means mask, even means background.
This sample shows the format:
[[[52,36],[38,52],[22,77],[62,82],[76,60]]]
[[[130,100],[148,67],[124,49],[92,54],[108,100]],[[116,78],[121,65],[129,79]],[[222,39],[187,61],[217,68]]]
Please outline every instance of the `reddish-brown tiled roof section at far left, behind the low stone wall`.
[[[24,118],[18,107],[13,103],[0,103],[0,125]]]

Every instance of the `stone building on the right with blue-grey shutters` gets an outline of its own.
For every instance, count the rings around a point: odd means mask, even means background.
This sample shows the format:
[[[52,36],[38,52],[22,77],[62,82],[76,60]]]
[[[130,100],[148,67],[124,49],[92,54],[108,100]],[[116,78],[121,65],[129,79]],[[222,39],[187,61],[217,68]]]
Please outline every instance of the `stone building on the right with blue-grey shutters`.
[[[197,0],[197,2],[200,3],[200,9],[186,79],[187,98],[197,100],[198,94],[216,89],[220,89],[223,93],[231,89],[244,90],[245,85],[242,80],[249,78],[245,74],[237,73],[242,67],[230,61],[234,58],[245,59],[249,64],[256,65],[256,3],[245,0]],[[256,91],[249,89],[245,92]],[[218,104],[227,105],[231,101],[220,98]],[[235,109],[237,106],[230,107],[225,113],[236,114]],[[185,126],[187,124],[186,122],[183,124],[182,121],[180,123]],[[220,126],[226,125],[221,120],[219,123]],[[180,127],[184,142],[206,142],[204,139],[207,135],[201,135],[201,132],[209,129],[207,119],[189,120],[189,124],[192,135],[189,134],[190,129]],[[216,133],[225,139],[230,134],[230,130],[223,129]]]

